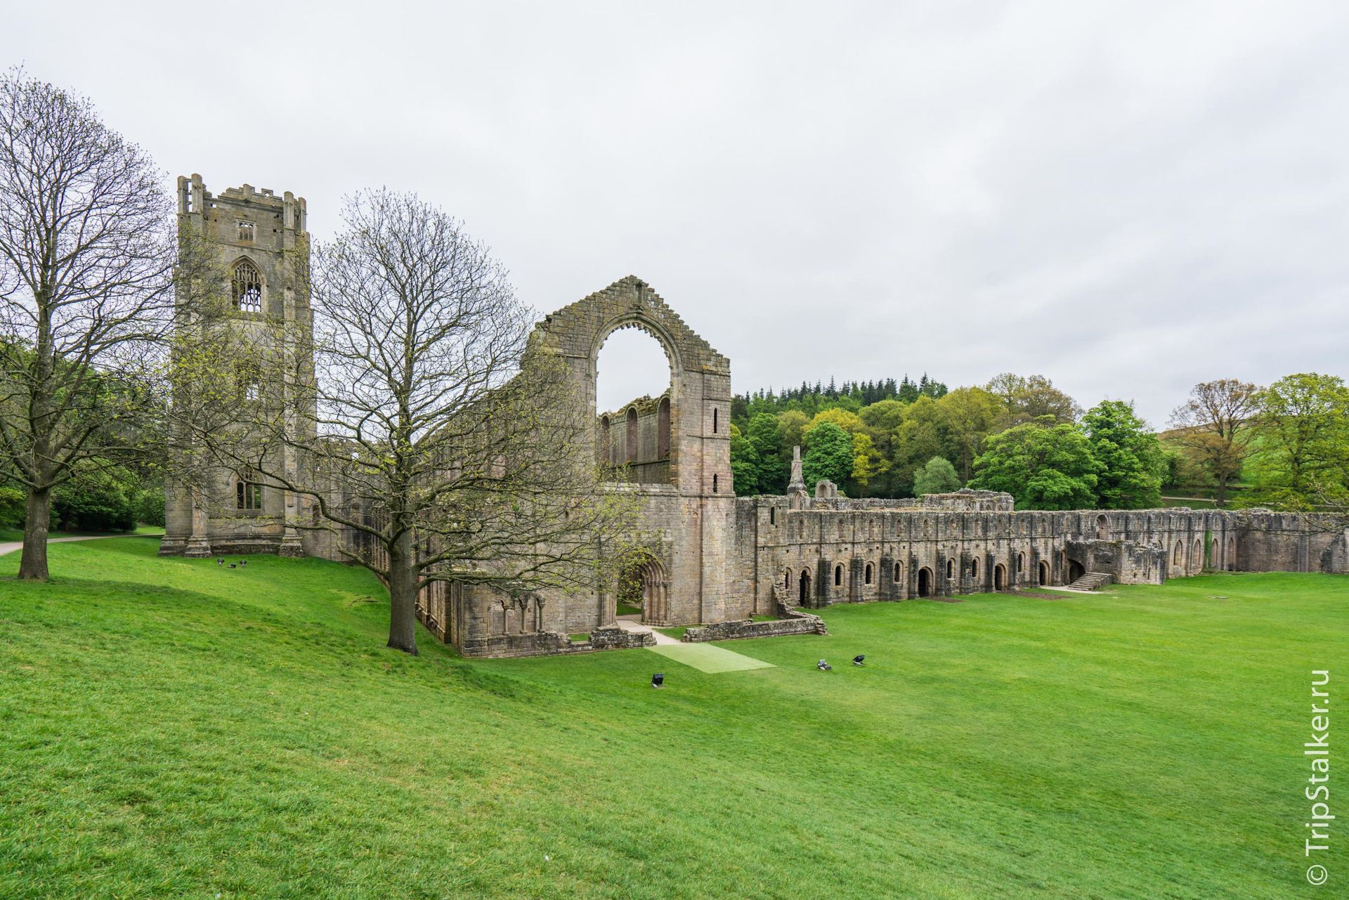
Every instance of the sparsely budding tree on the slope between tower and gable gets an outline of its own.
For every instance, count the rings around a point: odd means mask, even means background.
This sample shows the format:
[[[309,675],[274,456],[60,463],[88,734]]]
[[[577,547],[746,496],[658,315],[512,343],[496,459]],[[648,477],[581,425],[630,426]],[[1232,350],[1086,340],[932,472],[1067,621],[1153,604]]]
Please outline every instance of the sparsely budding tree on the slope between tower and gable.
[[[344,220],[314,251],[312,347],[305,328],[272,322],[251,356],[259,390],[231,387],[228,314],[197,320],[177,358],[192,445],[355,534],[339,549],[389,584],[389,646],[407,653],[434,580],[607,579],[604,549],[634,507],[600,488],[594,416],[530,337],[506,271],[414,196],[360,194]]]

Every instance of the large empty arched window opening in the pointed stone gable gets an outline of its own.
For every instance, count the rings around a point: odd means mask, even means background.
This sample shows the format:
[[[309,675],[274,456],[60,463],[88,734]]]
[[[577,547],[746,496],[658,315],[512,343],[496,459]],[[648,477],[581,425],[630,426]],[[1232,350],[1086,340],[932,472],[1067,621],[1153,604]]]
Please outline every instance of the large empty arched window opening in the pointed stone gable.
[[[622,327],[595,359],[596,456],[614,482],[670,483],[672,367],[639,325]]]

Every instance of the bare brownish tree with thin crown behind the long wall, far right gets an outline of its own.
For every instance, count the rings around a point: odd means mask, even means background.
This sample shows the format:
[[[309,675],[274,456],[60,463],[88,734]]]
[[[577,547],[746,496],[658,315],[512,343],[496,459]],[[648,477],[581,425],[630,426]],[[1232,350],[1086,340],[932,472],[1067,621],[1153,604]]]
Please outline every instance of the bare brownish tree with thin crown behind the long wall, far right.
[[[1171,413],[1175,441],[1218,484],[1215,506],[1226,503],[1228,484],[1241,476],[1259,405],[1255,385],[1219,378],[1191,387],[1190,398]]]

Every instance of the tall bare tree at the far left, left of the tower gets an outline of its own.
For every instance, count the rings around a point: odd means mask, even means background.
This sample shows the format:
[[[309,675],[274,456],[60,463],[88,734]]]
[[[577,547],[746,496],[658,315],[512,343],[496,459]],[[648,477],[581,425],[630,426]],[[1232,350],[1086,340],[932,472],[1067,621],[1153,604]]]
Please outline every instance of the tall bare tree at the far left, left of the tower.
[[[169,213],[150,157],[89,100],[0,78],[0,461],[28,495],[19,578],[47,579],[53,488],[144,449]]]

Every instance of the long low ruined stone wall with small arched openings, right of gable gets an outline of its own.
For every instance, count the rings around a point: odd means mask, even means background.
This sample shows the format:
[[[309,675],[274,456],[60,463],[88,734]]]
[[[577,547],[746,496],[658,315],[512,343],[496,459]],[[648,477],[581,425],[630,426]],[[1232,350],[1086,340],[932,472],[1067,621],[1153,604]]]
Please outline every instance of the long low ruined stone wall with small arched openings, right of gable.
[[[772,613],[774,586],[801,606],[820,607],[901,600],[920,591],[1063,586],[1086,572],[1109,573],[1124,584],[1160,584],[1205,568],[1336,571],[1340,559],[1337,536],[1309,532],[1295,515],[1010,511],[1010,499],[987,491],[932,495],[923,506],[823,498],[792,509],[786,497],[742,498],[731,553],[739,568],[735,613]]]

